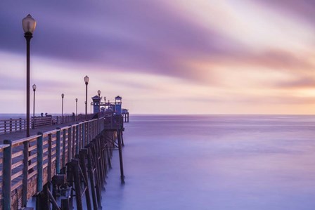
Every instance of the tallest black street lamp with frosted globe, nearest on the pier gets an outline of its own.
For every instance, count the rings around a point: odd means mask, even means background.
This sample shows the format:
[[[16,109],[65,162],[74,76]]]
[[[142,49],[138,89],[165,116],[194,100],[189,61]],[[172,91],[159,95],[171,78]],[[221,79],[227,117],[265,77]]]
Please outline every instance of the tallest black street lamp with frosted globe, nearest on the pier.
[[[26,137],[30,136],[30,41],[36,27],[36,21],[29,14],[22,20],[26,39]]]

